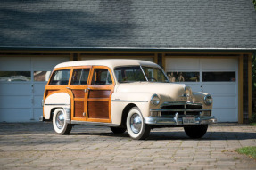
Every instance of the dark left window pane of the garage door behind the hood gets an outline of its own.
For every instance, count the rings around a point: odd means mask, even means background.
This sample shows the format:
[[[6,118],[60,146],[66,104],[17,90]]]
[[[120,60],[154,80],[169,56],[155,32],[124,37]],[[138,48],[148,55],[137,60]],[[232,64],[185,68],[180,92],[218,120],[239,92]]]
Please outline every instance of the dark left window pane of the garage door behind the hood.
[[[167,72],[170,82],[199,82],[199,72]]]

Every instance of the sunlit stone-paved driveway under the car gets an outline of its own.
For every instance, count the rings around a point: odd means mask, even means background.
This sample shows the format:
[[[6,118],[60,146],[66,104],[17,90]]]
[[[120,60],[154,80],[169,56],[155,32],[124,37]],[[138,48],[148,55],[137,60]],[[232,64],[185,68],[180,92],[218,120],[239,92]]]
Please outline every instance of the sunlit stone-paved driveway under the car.
[[[211,125],[199,140],[183,128],[153,129],[145,141],[110,128],[74,126],[54,134],[51,123],[0,124],[0,169],[256,169],[235,149],[256,146],[256,126]]]

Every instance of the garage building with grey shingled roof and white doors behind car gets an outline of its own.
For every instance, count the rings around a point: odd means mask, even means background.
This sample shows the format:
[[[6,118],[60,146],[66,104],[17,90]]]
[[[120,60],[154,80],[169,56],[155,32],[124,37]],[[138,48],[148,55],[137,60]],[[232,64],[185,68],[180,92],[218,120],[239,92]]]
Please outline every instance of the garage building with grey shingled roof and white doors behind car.
[[[38,121],[63,61],[140,59],[211,93],[219,122],[252,117],[256,12],[248,0],[1,1],[0,122]]]

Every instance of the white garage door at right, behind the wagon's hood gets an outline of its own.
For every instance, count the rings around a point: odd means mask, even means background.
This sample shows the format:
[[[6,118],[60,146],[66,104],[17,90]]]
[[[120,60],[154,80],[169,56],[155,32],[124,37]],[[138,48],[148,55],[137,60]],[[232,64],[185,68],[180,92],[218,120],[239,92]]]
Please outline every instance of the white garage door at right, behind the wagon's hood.
[[[236,59],[166,59],[172,82],[184,82],[194,92],[211,93],[219,122],[238,121],[238,61]]]

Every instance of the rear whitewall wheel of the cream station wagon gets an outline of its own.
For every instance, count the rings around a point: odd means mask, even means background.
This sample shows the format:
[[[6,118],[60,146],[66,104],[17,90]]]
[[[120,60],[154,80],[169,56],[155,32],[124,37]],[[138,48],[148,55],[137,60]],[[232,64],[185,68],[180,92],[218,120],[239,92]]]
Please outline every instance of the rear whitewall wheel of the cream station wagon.
[[[55,109],[53,117],[54,131],[57,134],[70,134],[72,125],[66,122],[66,116],[63,109]]]

